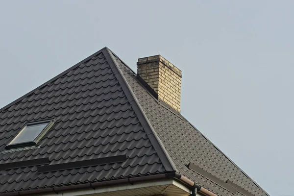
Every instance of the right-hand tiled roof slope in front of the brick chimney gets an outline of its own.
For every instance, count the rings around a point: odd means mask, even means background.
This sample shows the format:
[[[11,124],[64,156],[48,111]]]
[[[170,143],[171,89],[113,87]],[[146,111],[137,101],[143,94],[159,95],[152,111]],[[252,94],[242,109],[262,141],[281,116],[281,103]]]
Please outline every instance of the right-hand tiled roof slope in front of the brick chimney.
[[[114,54],[115,55],[115,54]],[[215,147],[185,118],[173,113],[160,104],[142,84],[136,74],[118,58],[116,63],[122,70],[149,122],[176,166],[176,171],[216,193],[232,195],[231,192],[187,168],[191,162],[216,176],[223,182],[230,180],[255,196],[268,196],[250,177]]]

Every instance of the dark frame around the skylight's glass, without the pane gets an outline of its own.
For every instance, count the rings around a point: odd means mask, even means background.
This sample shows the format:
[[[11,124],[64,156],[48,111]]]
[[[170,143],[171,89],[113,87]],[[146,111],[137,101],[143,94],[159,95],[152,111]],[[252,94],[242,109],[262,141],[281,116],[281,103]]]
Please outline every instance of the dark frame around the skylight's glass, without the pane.
[[[18,132],[18,134],[12,139],[12,141],[5,148],[11,149],[11,148],[17,148],[17,147],[34,146],[34,145],[38,144],[38,142],[44,137],[44,135],[49,131],[49,129],[54,125],[55,122],[56,122],[55,119],[49,119],[49,120],[42,120],[42,121],[34,121],[34,122],[25,123],[25,125],[22,127],[22,129]],[[13,142],[30,125],[38,125],[38,124],[45,124],[45,123],[48,123],[48,124],[43,128],[43,130],[32,141],[20,142],[20,143],[13,144]]]

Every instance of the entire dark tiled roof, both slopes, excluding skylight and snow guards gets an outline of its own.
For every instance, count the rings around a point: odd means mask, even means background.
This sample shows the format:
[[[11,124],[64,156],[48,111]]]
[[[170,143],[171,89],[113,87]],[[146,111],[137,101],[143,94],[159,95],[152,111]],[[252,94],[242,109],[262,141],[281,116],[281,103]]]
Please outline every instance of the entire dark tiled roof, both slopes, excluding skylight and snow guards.
[[[57,122],[36,147],[6,150],[26,122]],[[126,161],[55,172],[36,166],[0,170],[0,193],[176,171],[219,196],[221,181],[267,196],[182,116],[161,105],[136,74],[104,48],[0,110],[0,164],[48,157],[49,165],[126,155]],[[237,192],[236,195],[242,196]]]

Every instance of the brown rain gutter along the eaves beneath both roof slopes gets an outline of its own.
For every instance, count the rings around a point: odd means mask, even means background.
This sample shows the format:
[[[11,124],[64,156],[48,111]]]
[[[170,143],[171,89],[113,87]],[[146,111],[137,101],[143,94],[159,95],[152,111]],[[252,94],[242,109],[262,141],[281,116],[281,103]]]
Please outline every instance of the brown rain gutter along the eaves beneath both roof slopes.
[[[132,177],[132,178],[125,178],[125,179],[118,179],[118,180],[110,180],[105,182],[94,182],[94,183],[87,183],[87,184],[77,184],[77,185],[70,185],[70,186],[55,187],[55,188],[35,189],[35,190],[18,191],[18,192],[12,192],[12,193],[2,193],[0,194],[0,196],[25,196],[25,195],[27,196],[32,194],[44,194],[44,193],[52,193],[52,192],[58,194],[59,192],[69,191],[69,190],[72,191],[72,190],[87,189],[87,188],[95,189],[98,187],[113,186],[113,185],[118,185],[123,183],[133,184],[136,182],[143,182],[148,180],[160,180],[160,179],[167,179],[167,178],[176,179],[186,184],[190,188],[192,188],[192,194],[190,196],[196,196],[197,191],[206,196],[217,196],[216,194],[208,191],[207,189],[204,189],[203,187],[200,187],[192,180],[176,172]]]

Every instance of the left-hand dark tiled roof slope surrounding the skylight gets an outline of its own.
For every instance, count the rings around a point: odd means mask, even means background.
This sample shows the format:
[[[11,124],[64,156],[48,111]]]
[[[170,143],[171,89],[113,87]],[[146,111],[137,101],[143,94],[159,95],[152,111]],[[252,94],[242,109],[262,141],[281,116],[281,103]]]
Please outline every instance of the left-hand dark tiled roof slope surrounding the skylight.
[[[37,167],[0,171],[0,193],[164,173],[156,141],[149,139],[102,49],[0,110],[0,164],[49,157],[60,164],[125,154],[123,163],[38,173]],[[37,147],[5,150],[26,122],[57,122]],[[155,144],[154,144],[155,143]],[[155,145],[155,147],[154,147]],[[157,145],[158,148],[158,145]]]

